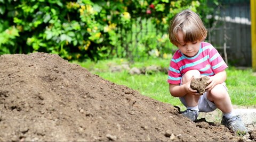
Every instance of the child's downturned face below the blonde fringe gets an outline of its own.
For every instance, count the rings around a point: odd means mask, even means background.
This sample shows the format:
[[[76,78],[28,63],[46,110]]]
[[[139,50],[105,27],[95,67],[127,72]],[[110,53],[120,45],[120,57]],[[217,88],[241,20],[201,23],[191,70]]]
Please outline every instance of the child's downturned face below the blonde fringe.
[[[181,30],[178,30],[178,41],[179,41],[178,48],[180,49],[182,54],[184,54],[187,57],[194,57],[195,55],[197,55],[200,48],[201,41],[197,40],[193,43],[192,42],[185,43],[183,41],[183,33]]]

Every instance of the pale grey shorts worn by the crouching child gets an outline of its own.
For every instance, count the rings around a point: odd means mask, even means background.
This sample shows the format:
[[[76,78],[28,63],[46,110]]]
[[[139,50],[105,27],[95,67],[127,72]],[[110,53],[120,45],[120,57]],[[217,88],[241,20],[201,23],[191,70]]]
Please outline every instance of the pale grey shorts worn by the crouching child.
[[[180,85],[182,85],[182,81],[181,81]],[[226,88],[226,90],[228,90],[225,82],[223,82],[222,85]],[[201,95],[199,97],[199,101],[198,101],[199,112],[211,112],[211,111],[214,111],[215,109],[217,109],[217,106],[215,105],[215,103],[213,103],[207,99],[207,93],[208,92],[205,92],[203,95]],[[179,99],[183,105],[188,107],[186,104],[185,98],[183,96],[179,97]]]

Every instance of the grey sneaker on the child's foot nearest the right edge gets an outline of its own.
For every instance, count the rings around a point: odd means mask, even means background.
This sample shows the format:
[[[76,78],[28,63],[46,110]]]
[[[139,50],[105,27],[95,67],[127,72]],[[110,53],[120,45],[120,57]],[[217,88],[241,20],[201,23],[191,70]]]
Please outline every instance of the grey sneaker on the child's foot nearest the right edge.
[[[221,123],[229,128],[230,131],[237,132],[239,134],[246,134],[247,129],[242,122],[240,116],[234,116],[227,119],[225,116],[222,117]]]

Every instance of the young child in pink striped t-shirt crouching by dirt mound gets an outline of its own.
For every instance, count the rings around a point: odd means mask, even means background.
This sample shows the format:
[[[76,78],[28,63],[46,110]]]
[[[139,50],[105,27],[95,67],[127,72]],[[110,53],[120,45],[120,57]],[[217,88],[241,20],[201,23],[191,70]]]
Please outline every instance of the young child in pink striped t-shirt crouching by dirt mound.
[[[241,118],[233,112],[227,92],[226,71],[228,67],[217,49],[204,42],[207,30],[200,17],[191,10],[183,10],[175,15],[169,25],[169,38],[179,49],[173,55],[168,80],[170,93],[179,97],[187,110],[182,115],[196,121],[199,112],[220,109],[221,123],[233,132],[247,132]],[[190,88],[193,78],[208,76],[210,83],[204,94]]]

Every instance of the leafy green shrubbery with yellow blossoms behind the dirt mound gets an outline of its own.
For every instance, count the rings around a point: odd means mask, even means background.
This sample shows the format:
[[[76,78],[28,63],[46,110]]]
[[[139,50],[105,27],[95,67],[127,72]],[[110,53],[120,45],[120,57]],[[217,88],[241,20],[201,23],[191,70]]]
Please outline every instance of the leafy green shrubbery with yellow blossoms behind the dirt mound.
[[[204,0],[8,0],[0,3],[0,54],[39,51],[59,54],[68,60],[150,56],[151,50],[166,54],[170,52],[166,49],[168,21],[175,14],[185,8],[204,14],[210,12],[199,9],[205,7]],[[138,26],[142,20],[161,31],[145,35]],[[127,38],[133,29],[138,34]],[[139,50],[134,50],[136,40]],[[124,47],[123,42],[129,46]]]

